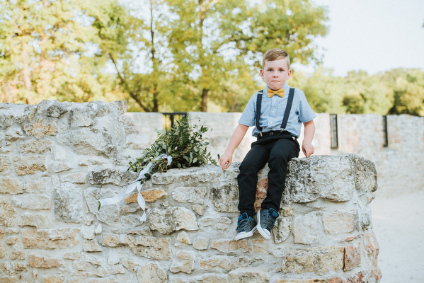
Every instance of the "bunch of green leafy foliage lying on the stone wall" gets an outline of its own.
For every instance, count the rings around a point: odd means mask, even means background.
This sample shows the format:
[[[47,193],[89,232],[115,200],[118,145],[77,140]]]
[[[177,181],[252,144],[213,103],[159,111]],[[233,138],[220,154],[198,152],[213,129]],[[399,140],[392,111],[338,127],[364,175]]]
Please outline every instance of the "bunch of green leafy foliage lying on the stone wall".
[[[211,162],[217,165],[210,152],[207,151],[207,138],[205,133],[209,130],[205,126],[190,126],[187,116],[183,116],[170,130],[164,129],[158,132],[158,138],[148,149],[144,149],[142,156],[134,163],[130,162],[130,171],[139,173],[150,162],[153,164],[150,173],[164,172],[170,168],[188,168],[200,166]],[[158,158],[162,154],[172,156],[172,162],[168,166],[166,158]]]

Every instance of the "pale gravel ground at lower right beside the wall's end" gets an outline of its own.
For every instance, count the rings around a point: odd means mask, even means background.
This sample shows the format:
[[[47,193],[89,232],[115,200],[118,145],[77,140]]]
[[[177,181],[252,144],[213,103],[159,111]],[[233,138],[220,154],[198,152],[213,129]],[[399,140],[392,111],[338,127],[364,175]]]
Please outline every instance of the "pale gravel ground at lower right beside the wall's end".
[[[380,283],[424,282],[424,190],[379,196],[369,204],[380,246]]]

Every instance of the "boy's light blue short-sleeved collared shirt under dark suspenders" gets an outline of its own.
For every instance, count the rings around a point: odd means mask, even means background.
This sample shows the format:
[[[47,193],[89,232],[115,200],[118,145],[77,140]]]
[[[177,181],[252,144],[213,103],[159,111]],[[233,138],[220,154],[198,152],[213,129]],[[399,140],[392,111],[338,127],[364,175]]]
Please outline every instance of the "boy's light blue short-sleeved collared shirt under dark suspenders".
[[[262,105],[260,108],[259,125],[262,127],[262,132],[278,131],[281,127],[282,118],[284,117],[287,100],[289,97],[290,86],[285,83],[283,86],[285,95],[271,96],[268,98],[266,95],[268,86],[263,91]],[[243,114],[241,114],[239,124],[253,128],[252,135],[257,137],[259,134],[255,125],[256,120],[256,98],[258,93],[255,93],[248,101]],[[289,120],[287,121],[286,131],[290,132],[293,136],[299,137],[302,123],[314,120],[316,115],[309,106],[303,91],[296,88],[294,90],[294,98],[292,108],[290,110]]]

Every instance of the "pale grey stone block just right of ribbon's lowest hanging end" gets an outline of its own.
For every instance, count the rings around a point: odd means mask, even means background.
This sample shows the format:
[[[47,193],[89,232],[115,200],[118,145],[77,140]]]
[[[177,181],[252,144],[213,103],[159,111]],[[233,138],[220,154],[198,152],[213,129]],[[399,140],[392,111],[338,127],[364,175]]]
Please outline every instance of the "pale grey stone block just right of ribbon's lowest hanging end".
[[[188,231],[199,229],[195,214],[184,207],[148,209],[147,222],[151,230],[157,230],[162,234],[168,234],[181,229]]]

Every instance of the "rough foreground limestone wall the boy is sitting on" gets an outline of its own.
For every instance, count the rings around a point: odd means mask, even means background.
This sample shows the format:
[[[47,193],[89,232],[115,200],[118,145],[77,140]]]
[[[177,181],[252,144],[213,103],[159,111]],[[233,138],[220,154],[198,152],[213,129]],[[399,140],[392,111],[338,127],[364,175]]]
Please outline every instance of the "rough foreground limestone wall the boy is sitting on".
[[[153,175],[145,222],[137,194],[98,210],[137,177],[128,162],[150,141],[126,107],[0,105],[0,283],[379,282],[377,172],[352,154],[290,162],[269,241],[233,240],[237,163]]]

